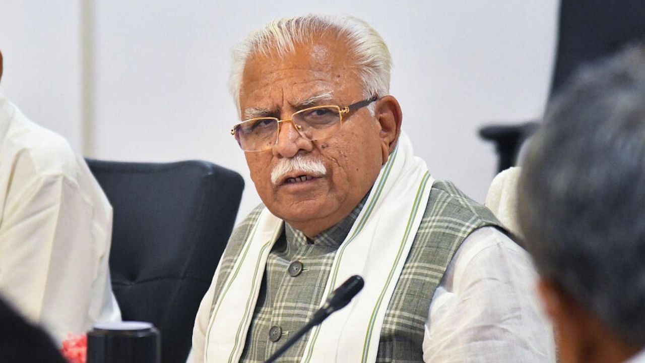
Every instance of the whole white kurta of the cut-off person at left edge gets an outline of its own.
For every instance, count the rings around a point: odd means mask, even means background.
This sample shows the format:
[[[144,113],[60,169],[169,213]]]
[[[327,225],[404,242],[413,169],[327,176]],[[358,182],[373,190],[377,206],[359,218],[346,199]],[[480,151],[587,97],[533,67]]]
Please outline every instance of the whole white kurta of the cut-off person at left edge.
[[[64,138],[0,95],[0,295],[60,342],[121,320],[112,207]]]

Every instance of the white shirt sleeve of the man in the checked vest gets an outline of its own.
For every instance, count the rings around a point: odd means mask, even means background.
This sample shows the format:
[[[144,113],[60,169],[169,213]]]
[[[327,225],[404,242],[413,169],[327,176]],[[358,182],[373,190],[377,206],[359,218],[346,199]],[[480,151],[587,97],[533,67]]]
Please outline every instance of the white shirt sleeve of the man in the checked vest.
[[[468,236],[430,304],[425,362],[555,362],[528,253],[494,227]]]

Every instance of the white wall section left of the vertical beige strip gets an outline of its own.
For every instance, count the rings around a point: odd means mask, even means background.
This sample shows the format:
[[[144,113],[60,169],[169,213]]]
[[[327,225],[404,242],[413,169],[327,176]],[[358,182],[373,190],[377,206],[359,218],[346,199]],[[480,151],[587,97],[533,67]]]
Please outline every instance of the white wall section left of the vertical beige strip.
[[[0,93],[82,145],[79,1],[0,0]]]

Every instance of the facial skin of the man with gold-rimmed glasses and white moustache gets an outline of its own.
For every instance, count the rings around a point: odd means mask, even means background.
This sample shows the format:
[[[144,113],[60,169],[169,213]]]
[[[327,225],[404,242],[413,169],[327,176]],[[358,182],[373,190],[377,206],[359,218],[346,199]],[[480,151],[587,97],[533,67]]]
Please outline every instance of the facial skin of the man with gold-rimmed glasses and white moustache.
[[[313,105],[344,107],[363,98],[346,45],[324,37],[299,45],[282,58],[252,55],[244,68],[240,107],[244,119],[251,116],[250,109],[289,119],[293,112]],[[312,99],[318,100],[312,104]],[[246,162],[266,207],[313,237],[347,216],[372,187],[384,162],[380,131],[381,125],[366,108],[345,114],[338,131],[324,140],[308,141],[285,122],[277,144],[246,152]],[[272,183],[275,165],[295,156],[321,161],[325,174],[290,172]],[[303,175],[310,180],[288,180]]]

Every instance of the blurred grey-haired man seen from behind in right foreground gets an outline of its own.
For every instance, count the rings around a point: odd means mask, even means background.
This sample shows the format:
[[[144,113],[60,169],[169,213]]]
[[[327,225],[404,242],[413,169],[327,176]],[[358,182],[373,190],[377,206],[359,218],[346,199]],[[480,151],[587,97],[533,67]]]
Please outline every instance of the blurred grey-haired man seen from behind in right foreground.
[[[519,209],[562,362],[645,362],[645,47],[548,107]],[[640,351],[640,353],[638,353]]]

